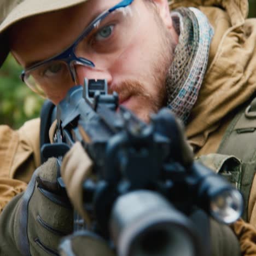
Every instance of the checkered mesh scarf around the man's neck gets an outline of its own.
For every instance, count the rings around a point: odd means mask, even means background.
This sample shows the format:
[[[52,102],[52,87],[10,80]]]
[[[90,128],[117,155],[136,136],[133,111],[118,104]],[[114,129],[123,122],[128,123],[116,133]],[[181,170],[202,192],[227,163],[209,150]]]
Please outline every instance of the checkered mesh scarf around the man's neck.
[[[166,79],[167,107],[186,123],[206,71],[213,28],[196,8],[178,8],[171,15],[179,18],[180,34]]]

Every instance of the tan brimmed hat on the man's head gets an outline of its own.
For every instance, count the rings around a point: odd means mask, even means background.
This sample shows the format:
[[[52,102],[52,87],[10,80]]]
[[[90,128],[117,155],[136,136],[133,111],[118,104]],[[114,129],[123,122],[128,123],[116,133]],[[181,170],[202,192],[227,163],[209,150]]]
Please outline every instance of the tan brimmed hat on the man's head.
[[[0,0],[0,67],[9,53],[5,31],[29,16],[48,13],[76,5],[87,0]]]

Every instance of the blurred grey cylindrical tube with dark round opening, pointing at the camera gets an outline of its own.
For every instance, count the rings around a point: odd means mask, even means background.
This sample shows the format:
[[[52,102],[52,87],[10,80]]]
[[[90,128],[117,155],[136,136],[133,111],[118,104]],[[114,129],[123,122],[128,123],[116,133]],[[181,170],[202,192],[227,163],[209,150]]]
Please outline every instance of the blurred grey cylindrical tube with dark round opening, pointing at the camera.
[[[191,220],[153,191],[118,197],[110,233],[119,256],[202,256]]]

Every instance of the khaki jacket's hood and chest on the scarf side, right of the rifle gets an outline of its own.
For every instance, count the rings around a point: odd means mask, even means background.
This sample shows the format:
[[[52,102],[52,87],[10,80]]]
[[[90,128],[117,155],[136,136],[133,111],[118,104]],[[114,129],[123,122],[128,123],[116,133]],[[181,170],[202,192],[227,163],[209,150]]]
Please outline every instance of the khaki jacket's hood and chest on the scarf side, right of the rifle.
[[[226,128],[256,91],[256,19],[246,19],[247,0],[173,0],[171,9],[194,6],[214,28],[208,67],[186,127],[197,156],[216,153]],[[218,8],[220,7],[220,8]],[[248,205],[248,225],[232,228],[243,255],[256,255],[256,177]]]

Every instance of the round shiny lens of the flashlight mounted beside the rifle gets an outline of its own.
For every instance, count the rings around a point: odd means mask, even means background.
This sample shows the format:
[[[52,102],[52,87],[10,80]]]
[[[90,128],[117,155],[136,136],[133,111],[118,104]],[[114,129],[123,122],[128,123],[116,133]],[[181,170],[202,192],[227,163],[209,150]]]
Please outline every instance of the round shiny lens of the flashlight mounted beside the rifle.
[[[213,197],[211,214],[219,222],[230,224],[240,218],[243,211],[243,198],[236,189],[224,190]]]

